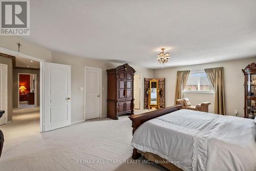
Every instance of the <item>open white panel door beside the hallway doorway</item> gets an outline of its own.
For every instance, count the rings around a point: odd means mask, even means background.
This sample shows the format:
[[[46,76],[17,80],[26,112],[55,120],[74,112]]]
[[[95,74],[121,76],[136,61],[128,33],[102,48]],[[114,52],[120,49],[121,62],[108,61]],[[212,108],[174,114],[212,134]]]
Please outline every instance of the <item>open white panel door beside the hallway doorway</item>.
[[[44,132],[71,125],[71,66],[45,62],[44,99]]]

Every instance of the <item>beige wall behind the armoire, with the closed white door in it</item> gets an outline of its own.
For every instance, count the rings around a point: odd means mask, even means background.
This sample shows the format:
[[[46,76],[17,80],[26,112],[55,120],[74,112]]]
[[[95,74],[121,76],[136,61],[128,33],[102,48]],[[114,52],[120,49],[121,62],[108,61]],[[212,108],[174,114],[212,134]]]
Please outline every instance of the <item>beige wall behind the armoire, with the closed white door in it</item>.
[[[123,63],[113,63],[106,62],[103,60],[95,60],[90,58],[78,57],[68,54],[62,54],[58,52],[52,53],[52,62],[62,63],[66,65],[71,65],[71,87],[72,87],[72,102],[71,102],[71,110],[72,116],[71,121],[81,121],[84,117],[84,91],[80,90],[80,87],[84,87],[84,67],[96,67],[102,69],[102,117],[106,116],[106,99],[107,99],[107,69],[116,68]],[[153,77],[153,70],[134,67],[137,73],[142,74],[142,81],[144,77]],[[143,88],[143,83],[141,83],[141,87]],[[143,93],[143,90],[141,94]],[[141,101],[143,104],[143,101]],[[143,105],[142,105],[143,106]]]

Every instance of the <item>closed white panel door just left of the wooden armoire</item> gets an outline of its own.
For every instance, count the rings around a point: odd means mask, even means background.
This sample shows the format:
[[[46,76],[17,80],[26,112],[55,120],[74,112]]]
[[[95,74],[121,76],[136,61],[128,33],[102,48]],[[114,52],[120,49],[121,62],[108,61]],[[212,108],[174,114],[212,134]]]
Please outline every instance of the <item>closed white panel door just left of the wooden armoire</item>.
[[[86,67],[86,120],[100,116],[100,72],[101,69]]]

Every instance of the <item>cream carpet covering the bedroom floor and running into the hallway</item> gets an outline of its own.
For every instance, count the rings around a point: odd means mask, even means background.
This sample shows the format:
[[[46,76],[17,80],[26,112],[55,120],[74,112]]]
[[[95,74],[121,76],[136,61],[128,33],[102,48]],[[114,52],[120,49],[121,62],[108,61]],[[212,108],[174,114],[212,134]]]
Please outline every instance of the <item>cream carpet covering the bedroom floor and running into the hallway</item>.
[[[142,112],[147,111],[136,111]],[[119,120],[98,118],[39,133],[39,109],[19,109],[14,111],[13,122],[0,129],[5,134],[1,171],[166,170],[158,164],[142,163],[144,158],[131,159],[132,127],[126,115]]]

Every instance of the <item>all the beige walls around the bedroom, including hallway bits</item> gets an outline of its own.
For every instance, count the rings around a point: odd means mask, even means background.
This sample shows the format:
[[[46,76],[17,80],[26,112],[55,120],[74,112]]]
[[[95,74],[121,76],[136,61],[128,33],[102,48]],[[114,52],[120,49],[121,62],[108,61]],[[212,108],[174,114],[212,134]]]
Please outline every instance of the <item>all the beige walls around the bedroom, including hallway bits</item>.
[[[121,63],[106,62],[103,60],[95,60],[90,58],[78,57],[68,54],[62,54],[58,52],[51,52],[45,48],[32,44],[18,36],[0,36],[0,47],[17,51],[16,43],[20,42],[23,46],[20,49],[21,53],[34,56],[46,61],[52,61],[56,63],[63,63],[71,65],[72,67],[72,122],[83,120],[83,91],[80,91],[80,87],[84,87],[84,66],[102,68],[102,86],[105,88],[102,91],[102,116],[106,116],[106,96],[107,96],[107,78],[106,69],[115,68]],[[243,99],[244,99],[244,76],[241,69],[245,68],[248,63],[254,62],[254,58],[233,60],[225,62],[207,63],[203,65],[194,65],[186,67],[165,68],[158,70],[150,70],[140,67],[134,67],[137,73],[142,74],[141,78],[141,97],[144,92],[144,78],[166,78],[166,106],[174,104],[176,73],[179,70],[203,70],[205,68],[212,67],[224,67],[225,74],[225,95],[226,95],[226,112],[228,115],[234,115],[234,110],[238,110],[239,116],[243,116]],[[0,59],[2,63],[8,63],[12,65],[11,59]],[[8,68],[8,87],[12,85],[13,74],[12,67]],[[39,74],[38,74],[39,75]],[[37,79],[39,80],[39,79]],[[39,83],[37,84],[39,85]],[[11,86],[12,87],[12,86]],[[12,89],[8,93],[9,106],[8,109],[12,109]],[[210,101],[212,104],[209,107],[210,112],[214,112],[214,94],[199,94],[199,93],[184,93],[185,97],[188,97],[193,104],[201,103],[203,101]],[[14,97],[13,97],[14,98]],[[15,100],[17,101],[17,100]],[[39,104],[39,103],[38,103]],[[15,104],[16,106],[16,104]],[[141,106],[143,106],[143,100],[141,100]],[[11,120],[12,110],[9,110],[8,120]]]

